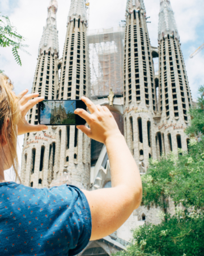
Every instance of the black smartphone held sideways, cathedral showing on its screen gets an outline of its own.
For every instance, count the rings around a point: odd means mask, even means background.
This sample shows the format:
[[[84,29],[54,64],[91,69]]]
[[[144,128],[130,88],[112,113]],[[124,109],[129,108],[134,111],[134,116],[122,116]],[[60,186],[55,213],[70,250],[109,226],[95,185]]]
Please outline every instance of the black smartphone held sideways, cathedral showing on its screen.
[[[74,114],[75,109],[87,110],[82,100],[44,100],[39,102],[40,125],[85,125],[86,121]]]

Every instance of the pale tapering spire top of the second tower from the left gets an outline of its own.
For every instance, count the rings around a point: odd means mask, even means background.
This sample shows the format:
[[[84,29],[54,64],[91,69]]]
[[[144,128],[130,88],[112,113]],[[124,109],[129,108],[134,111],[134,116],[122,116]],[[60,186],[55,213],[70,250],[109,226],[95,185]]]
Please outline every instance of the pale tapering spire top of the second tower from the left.
[[[84,22],[87,21],[85,0],[71,0],[68,21],[74,18],[80,18],[81,20],[84,20]]]

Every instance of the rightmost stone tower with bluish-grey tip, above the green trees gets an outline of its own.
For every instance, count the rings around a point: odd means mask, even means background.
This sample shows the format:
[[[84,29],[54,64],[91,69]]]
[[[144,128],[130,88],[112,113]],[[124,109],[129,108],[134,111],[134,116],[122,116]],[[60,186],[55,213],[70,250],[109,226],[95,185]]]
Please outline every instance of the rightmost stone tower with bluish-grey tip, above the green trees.
[[[192,105],[180,36],[169,0],[160,0],[159,13],[159,114],[161,116],[158,154],[187,149],[185,127],[189,123],[188,111]]]

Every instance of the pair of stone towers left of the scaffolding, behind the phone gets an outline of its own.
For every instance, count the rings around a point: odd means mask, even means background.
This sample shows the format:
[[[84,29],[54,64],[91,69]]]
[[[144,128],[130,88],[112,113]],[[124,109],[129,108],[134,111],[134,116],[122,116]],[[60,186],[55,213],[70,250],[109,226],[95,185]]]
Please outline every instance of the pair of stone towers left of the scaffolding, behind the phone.
[[[87,17],[83,0],[71,1],[63,57],[58,60],[57,1],[51,0],[39,47],[32,92],[45,100],[78,100],[90,97],[90,68],[86,40]],[[61,79],[58,85],[58,69]],[[37,125],[37,106],[28,113]],[[90,139],[75,126],[49,126],[48,131],[25,135],[22,181],[33,187],[49,187],[69,175],[69,183],[90,188]],[[63,178],[62,178],[63,180]]]

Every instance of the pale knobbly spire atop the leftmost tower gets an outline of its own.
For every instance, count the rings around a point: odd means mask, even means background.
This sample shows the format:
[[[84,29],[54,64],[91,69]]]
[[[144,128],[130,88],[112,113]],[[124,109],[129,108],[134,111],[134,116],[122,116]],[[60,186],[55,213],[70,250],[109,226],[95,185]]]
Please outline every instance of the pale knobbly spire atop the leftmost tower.
[[[51,53],[58,54],[58,31],[57,31],[57,0],[50,0],[48,6],[48,18],[46,19],[46,25],[43,28],[42,38],[40,40],[39,55],[41,52],[50,51]]]

